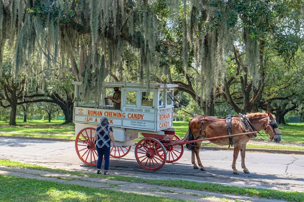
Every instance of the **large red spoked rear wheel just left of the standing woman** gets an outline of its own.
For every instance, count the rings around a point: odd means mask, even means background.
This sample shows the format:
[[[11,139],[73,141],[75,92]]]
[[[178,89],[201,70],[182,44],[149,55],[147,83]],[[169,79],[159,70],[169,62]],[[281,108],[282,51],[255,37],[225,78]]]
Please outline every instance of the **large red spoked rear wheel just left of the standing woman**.
[[[82,129],[75,140],[76,153],[80,160],[89,166],[96,166],[98,159],[94,144],[95,128]]]

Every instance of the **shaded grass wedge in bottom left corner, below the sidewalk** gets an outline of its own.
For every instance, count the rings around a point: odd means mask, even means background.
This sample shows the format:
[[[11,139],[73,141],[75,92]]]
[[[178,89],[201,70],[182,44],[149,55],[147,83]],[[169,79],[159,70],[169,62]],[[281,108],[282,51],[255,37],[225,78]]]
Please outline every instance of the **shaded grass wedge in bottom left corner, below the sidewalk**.
[[[1,201],[185,201],[5,175],[0,187]]]

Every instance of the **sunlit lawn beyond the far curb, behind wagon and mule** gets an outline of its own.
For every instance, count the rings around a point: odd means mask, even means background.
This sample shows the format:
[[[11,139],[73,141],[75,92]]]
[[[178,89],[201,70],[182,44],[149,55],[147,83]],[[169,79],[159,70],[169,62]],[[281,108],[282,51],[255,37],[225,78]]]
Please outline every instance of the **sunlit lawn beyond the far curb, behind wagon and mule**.
[[[16,120],[17,126],[8,126],[8,122],[0,121],[0,136],[23,136],[23,137],[47,137],[47,138],[64,138],[64,139],[75,139],[74,135],[74,124],[65,124],[63,121],[52,121],[51,123],[47,121],[33,120],[26,123],[22,120]],[[175,128],[175,133],[179,137],[184,137],[188,130],[188,122],[186,121],[174,121],[173,127]],[[287,126],[279,126],[282,132],[282,143],[294,143],[295,146],[282,146],[277,145],[261,145],[258,144],[248,144],[248,148],[269,148],[269,149],[290,149],[290,150],[304,150],[304,147],[299,147],[296,144],[304,144],[304,123],[290,123]],[[263,139],[267,139],[267,135],[264,131],[260,131]],[[258,135],[260,136],[260,135]],[[140,136],[143,138],[143,136]],[[258,139],[258,138],[255,138]],[[254,140],[254,139],[253,139]],[[135,140],[138,142],[139,139]],[[213,143],[203,142],[204,146],[218,146]]]

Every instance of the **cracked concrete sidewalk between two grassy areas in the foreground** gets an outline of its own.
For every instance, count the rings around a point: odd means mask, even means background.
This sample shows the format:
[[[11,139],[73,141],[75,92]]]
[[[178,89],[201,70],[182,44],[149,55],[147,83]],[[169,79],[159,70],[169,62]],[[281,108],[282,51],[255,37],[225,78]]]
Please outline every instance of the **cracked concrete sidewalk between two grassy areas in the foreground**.
[[[193,201],[222,202],[223,198],[229,198],[230,201],[234,201],[234,200],[254,201],[254,202],[284,201],[277,199],[250,197],[250,196],[233,195],[233,194],[221,194],[215,192],[198,191],[192,189],[175,188],[175,187],[167,187],[167,186],[139,184],[139,183],[116,181],[116,180],[101,179],[101,178],[78,177],[78,176],[71,176],[65,173],[62,174],[62,173],[56,173],[50,171],[11,168],[4,166],[0,166],[0,175],[47,180],[47,181],[65,183],[65,184],[77,184],[87,187],[106,188],[109,190],[123,191],[128,193],[164,196],[164,197],[193,200]]]

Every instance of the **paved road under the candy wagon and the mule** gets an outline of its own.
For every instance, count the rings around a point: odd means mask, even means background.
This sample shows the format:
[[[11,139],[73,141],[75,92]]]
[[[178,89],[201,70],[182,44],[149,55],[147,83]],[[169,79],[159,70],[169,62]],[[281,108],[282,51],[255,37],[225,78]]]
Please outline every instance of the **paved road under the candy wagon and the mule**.
[[[200,153],[206,172],[191,165],[191,152],[165,164],[158,171],[146,171],[136,162],[134,148],[121,159],[111,159],[110,172],[151,179],[185,179],[255,188],[271,188],[304,192],[304,155],[247,153],[246,166],[251,174],[242,172],[240,161],[234,175],[231,169],[232,151],[202,150]],[[78,158],[73,142],[0,138],[0,159],[43,165],[83,172],[95,172]]]

